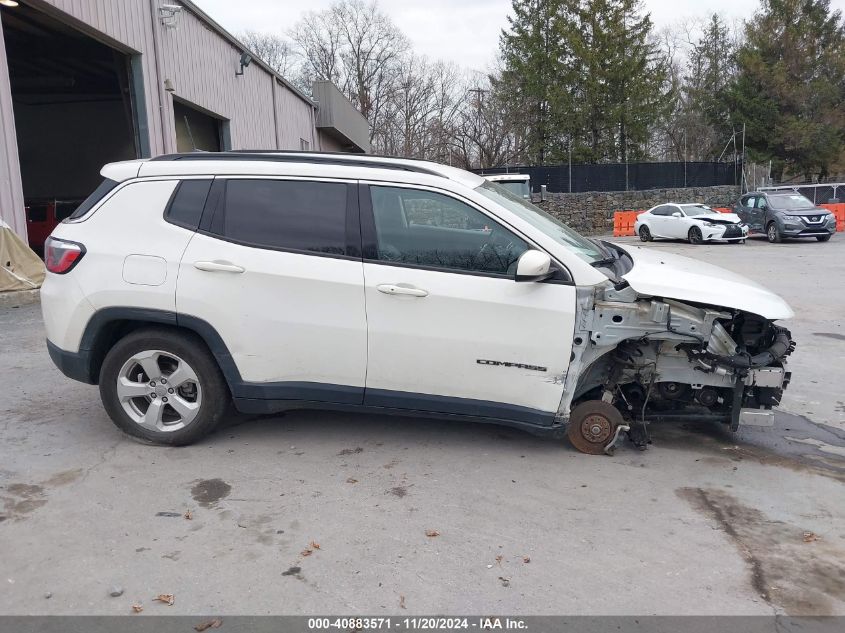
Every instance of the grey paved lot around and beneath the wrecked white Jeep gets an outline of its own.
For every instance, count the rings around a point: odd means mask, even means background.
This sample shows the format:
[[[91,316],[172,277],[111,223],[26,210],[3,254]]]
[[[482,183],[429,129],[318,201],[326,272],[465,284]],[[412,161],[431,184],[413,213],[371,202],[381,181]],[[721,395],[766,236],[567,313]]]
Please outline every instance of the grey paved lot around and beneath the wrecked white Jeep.
[[[799,415],[613,457],[318,412],[157,448],[53,368],[38,306],[0,310],[0,613],[845,614],[845,238],[648,248],[791,302]]]

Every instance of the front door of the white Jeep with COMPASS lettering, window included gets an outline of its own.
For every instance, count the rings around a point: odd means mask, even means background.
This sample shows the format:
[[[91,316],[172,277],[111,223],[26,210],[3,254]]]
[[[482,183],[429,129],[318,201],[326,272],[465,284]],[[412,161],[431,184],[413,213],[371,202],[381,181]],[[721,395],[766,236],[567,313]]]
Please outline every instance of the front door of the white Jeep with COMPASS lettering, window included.
[[[575,287],[514,281],[529,244],[452,195],[373,185],[361,198],[365,404],[551,424]]]

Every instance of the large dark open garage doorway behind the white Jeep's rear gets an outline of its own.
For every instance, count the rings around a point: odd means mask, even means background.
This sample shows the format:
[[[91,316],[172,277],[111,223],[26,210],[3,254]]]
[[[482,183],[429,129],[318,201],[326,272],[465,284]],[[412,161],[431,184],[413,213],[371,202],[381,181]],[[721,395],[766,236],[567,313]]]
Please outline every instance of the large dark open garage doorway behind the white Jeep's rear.
[[[23,2],[2,12],[27,232],[40,252],[103,164],[141,154],[130,59]]]

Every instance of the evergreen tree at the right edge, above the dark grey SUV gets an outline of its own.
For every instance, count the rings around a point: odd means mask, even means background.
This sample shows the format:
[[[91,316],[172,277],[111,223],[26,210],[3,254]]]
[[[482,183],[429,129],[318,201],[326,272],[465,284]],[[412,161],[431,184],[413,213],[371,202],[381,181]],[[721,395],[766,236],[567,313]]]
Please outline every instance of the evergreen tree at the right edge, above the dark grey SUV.
[[[730,91],[754,160],[825,177],[845,144],[845,24],[829,0],[762,0],[746,24]]]

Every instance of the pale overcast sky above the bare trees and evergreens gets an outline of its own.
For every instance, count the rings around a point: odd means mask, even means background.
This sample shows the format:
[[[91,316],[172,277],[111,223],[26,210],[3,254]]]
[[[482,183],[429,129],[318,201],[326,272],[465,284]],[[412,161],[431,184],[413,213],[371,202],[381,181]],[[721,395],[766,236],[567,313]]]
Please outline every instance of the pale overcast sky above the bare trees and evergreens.
[[[306,10],[320,10],[332,0],[194,0],[228,31],[252,29],[285,34]],[[832,6],[845,0],[832,0]],[[506,28],[510,0],[379,0],[379,5],[411,40],[413,49],[431,59],[453,61],[484,71],[492,65],[499,33]],[[657,28],[713,11],[728,22],[749,18],[758,0],[645,0]]]

